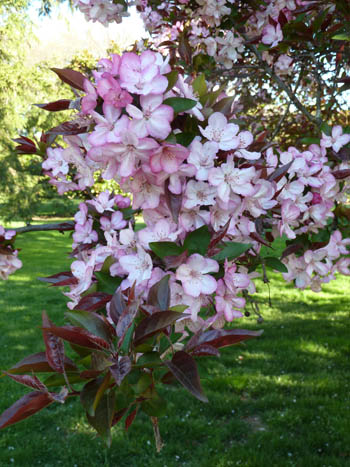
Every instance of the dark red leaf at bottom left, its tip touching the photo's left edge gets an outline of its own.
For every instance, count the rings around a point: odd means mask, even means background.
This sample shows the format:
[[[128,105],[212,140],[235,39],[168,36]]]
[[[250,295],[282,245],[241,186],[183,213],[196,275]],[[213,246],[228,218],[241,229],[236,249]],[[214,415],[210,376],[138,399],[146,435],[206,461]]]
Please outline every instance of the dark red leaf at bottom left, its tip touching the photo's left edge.
[[[20,422],[50,405],[52,398],[43,392],[30,392],[16,401],[0,416],[0,429]]]

